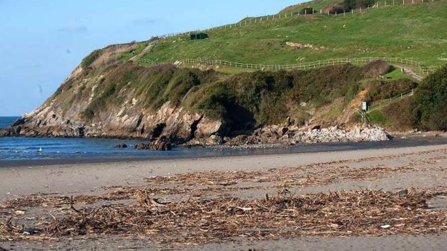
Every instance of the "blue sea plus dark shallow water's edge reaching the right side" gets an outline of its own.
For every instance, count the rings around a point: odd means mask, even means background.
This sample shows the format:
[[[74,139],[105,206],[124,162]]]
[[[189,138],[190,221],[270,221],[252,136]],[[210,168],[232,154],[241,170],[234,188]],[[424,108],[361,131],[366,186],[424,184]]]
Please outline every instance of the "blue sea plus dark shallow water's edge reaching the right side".
[[[0,128],[10,126],[20,117],[0,117]],[[115,162],[145,159],[207,158],[309,152],[336,152],[447,144],[444,138],[395,139],[382,142],[298,144],[274,149],[174,148],[168,152],[137,150],[142,139],[0,137],[0,167],[63,163]],[[126,144],[129,148],[114,148]]]

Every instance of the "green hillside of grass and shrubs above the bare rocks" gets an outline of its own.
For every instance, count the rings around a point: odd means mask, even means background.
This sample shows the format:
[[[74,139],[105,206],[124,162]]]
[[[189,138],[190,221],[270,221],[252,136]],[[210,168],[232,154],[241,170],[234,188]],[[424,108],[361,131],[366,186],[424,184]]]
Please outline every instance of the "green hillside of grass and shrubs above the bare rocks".
[[[285,8],[282,13],[285,17],[286,12],[299,12],[308,6],[318,10],[340,3],[317,0]],[[442,114],[438,105],[441,99],[430,100],[435,95],[430,93],[437,92],[426,90],[429,94],[425,99],[418,97],[420,83],[384,61],[289,71],[227,66],[215,71],[166,63],[185,58],[292,64],[342,57],[400,57],[424,65],[443,65],[447,62],[445,13],[447,3],[440,1],[369,9],[362,14],[296,15],[214,29],[207,32],[209,38],[205,40],[191,41],[188,35],[180,35],[152,40],[156,43],[109,46],[94,51],[81,64],[90,85],[78,83],[74,92],[71,88],[79,79],[71,79],[55,95],[63,102],[59,104],[61,110],[68,114],[79,110],[80,100],[85,101],[80,118],[89,122],[109,113],[125,116],[132,110],[122,110],[129,100],[138,100],[142,111],[149,114],[170,101],[172,106],[225,121],[230,130],[244,131],[281,124],[286,117],[297,125],[357,123],[361,122],[356,113],[362,101],[389,100],[414,89],[415,97],[369,113],[370,121],[396,130],[447,128],[443,120],[427,122],[433,114]],[[129,61],[136,57],[166,64],[145,67]],[[385,78],[379,79],[381,74]],[[426,105],[416,107],[422,101]],[[428,109],[430,105],[437,110]],[[120,110],[124,112],[118,113]]]

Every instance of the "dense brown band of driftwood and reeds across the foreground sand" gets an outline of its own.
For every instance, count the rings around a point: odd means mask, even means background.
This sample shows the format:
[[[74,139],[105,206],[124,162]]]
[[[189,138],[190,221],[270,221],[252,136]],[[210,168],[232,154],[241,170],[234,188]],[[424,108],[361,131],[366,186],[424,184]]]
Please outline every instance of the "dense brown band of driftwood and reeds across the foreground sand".
[[[245,237],[379,236],[447,232],[447,212],[427,210],[427,200],[447,191],[342,191],[294,196],[287,190],[258,200],[232,197],[163,203],[137,192],[135,205],[70,210],[30,228],[26,238],[143,235],[159,243],[203,244]],[[80,201],[82,202],[82,201]],[[76,202],[78,203],[78,202]],[[23,238],[11,220],[0,239]]]

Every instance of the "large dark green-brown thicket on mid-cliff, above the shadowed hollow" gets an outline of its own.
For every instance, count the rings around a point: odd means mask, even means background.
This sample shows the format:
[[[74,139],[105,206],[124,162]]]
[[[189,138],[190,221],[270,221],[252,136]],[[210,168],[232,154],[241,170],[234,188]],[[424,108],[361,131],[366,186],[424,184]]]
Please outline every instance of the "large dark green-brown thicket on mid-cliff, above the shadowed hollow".
[[[238,121],[228,125],[231,129],[249,129],[293,117],[300,102],[318,107],[348,91],[355,95],[359,87],[350,86],[357,85],[362,78],[362,68],[351,64],[309,70],[255,71],[210,83],[189,95],[186,104],[208,116]],[[294,119],[305,119],[301,117]]]

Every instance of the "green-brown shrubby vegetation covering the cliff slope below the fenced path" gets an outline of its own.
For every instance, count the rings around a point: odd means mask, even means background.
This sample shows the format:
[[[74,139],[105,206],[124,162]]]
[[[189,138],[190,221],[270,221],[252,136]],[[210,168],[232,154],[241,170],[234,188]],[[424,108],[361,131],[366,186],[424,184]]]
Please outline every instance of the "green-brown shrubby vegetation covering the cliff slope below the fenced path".
[[[86,71],[82,79],[89,77],[90,84],[76,86],[73,84],[76,81],[69,81],[58,95],[84,93],[78,94],[84,97],[74,94],[63,98],[72,100],[73,107],[79,106],[76,100],[90,97],[81,112],[86,122],[98,120],[101,114],[116,114],[130,100],[138,100],[138,105],[148,113],[156,113],[169,101],[172,107],[225,121],[230,131],[252,130],[261,125],[284,123],[287,117],[292,123],[304,125],[314,117],[315,110],[334,100],[343,100],[344,106],[349,104],[365,88],[366,80],[386,74],[389,68],[385,62],[373,62],[364,66],[344,64],[227,76],[214,70],[172,64],[144,67],[127,62],[101,71]],[[330,112],[342,113],[334,111]]]

